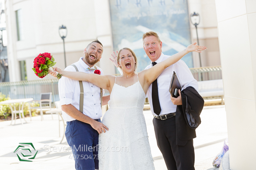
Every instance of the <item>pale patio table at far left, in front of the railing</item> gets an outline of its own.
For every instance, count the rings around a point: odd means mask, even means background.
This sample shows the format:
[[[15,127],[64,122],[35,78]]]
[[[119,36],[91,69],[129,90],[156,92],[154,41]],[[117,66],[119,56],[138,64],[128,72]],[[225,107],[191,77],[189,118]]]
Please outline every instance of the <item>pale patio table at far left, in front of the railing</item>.
[[[14,119],[14,124],[16,123],[16,114],[19,113],[19,118],[20,118],[20,122],[21,124],[23,124],[22,122],[22,118],[25,120],[25,122],[27,123],[26,119],[25,119],[25,116],[24,116],[24,113],[23,113],[23,108],[24,108],[24,104],[26,102],[30,102],[34,100],[33,98],[27,98],[27,99],[11,99],[11,100],[5,100],[3,102],[0,102],[0,104],[9,104],[10,108],[11,108],[11,112],[12,112],[12,120]],[[11,107],[11,104],[15,104],[15,103],[19,103],[19,110],[16,110],[16,107],[14,105],[14,107],[12,108]],[[21,107],[20,107],[21,106]],[[31,110],[29,108],[29,114],[31,116]],[[14,116],[15,115],[15,116]],[[22,117],[21,117],[22,115]],[[11,124],[12,124],[12,120],[11,120]],[[10,125],[11,125],[10,124]]]

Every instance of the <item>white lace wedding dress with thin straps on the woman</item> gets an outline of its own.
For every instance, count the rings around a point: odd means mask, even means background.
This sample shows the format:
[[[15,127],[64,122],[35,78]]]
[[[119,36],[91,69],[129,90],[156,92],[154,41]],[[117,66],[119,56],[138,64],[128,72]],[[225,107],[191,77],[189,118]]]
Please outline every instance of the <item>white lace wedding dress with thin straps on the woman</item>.
[[[146,95],[138,82],[114,84],[109,110],[102,123],[109,131],[99,135],[99,170],[154,170],[143,107]]]

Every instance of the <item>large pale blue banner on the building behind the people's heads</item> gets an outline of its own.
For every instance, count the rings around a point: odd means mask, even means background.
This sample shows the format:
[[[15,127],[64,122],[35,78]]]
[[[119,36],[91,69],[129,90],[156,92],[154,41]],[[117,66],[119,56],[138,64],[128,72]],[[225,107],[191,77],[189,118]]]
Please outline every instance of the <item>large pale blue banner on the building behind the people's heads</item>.
[[[142,35],[157,32],[162,52],[173,55],[191,44],[187,0],[109,0],[114,50],[131,48],[138,57],[137,71],[150,64]],[[193,67],[192,55],[182,58]]]

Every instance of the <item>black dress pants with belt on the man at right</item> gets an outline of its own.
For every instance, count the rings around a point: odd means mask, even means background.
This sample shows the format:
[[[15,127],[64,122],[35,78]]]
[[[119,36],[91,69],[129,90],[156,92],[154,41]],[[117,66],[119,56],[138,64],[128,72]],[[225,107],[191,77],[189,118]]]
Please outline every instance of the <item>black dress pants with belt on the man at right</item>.
[[[176,145],[175,116],[169,119],[153,119],[155,137],[168,170],[195,170],[193,139],[184,146]]]

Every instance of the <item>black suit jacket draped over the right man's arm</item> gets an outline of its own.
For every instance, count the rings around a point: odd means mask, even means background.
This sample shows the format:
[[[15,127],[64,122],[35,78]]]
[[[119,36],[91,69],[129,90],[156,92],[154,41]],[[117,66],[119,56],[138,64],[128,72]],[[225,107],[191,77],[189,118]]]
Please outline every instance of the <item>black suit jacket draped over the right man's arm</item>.
[[[184,146],[189,139],[196,138],[196,128],[201,123],[200,114],[204,99],[195,88],[189,86],[181,91],[182,105],[176,109],[176,142]]]

